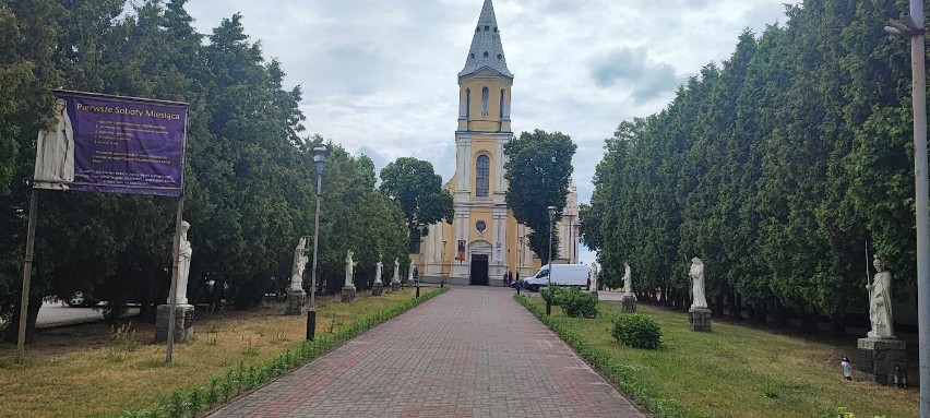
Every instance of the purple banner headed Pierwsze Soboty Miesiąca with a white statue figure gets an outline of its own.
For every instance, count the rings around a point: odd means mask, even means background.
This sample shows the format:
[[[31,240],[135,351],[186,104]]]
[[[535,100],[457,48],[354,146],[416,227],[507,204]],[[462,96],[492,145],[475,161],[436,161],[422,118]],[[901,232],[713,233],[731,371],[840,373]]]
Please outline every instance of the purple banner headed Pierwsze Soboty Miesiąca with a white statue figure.
[[[34,187],[179,196],[189,106],[56,91],[37,140]]]

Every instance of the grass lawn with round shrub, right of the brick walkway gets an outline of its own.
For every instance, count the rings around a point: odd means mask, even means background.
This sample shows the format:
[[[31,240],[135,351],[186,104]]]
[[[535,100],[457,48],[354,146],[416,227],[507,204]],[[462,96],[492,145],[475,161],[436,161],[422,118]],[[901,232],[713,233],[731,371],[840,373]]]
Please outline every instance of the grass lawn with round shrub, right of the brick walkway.
[[[541,298],[533,303],[542,306]],[[719,321],[713,333],[688,329],[688,315],[640,304],[661,325],[658,350],[627,348],[610,335],[621,315],[620,302],[601,301],[594,320],[565,317],[557,322],[596,349],[631,369],[643,382],[675,399],[693,417],[821,417],[837,406],[857,418],[917,417],[918,391],[843,381],[839,360],[854,358],[856,346],[815,342]]]

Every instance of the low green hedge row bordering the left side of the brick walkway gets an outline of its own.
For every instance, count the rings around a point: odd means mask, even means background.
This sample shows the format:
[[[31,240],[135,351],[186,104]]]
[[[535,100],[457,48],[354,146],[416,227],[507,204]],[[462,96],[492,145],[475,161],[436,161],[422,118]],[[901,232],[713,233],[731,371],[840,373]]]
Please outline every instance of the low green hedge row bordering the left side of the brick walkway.
[[[226,369],[226,374],[223,377],[211,378],[205,385],[179,389],[172,392],[170,396],[154,409],[127,410],[122,413],[121,417],[198,417],[201,413],[212,410],[228,403],[236,396],[262,386],[272,379],[329,353],[356,335],[371,330],[448,290],[448,287],[428,290],[420,295],[419,298],[405,300],[393,308],[358,319],[348,326],[336,330],[335,333],[318,336],[313,341],[305,341],[297,350],[287,350],[273,360],[249,366],[240,362],[238,368]]]

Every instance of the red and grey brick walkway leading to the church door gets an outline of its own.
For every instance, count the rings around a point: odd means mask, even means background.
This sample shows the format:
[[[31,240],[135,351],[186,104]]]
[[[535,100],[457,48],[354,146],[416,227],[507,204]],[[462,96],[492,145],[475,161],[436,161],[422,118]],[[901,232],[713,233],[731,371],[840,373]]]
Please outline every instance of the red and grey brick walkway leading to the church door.
[[[213,417],[645,417],[511,296],[455,287]]]

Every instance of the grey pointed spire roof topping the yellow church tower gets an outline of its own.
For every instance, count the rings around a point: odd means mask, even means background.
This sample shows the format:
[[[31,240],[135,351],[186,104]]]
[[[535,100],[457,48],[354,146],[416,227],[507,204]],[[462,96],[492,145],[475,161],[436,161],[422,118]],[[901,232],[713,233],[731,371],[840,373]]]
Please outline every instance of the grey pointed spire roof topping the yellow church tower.
[[[506,69],[506,58],[503,55],[501,33],[498,29],[498,19],[494,16],[494,4],[491,0],[485,0],[478,25],[475,27],[475,37],[472,38],[472,48],[468,49],[468,58],[465,68],[458,76],[474,74],[482,68],[489,68],[502,75],[513,77]]]

